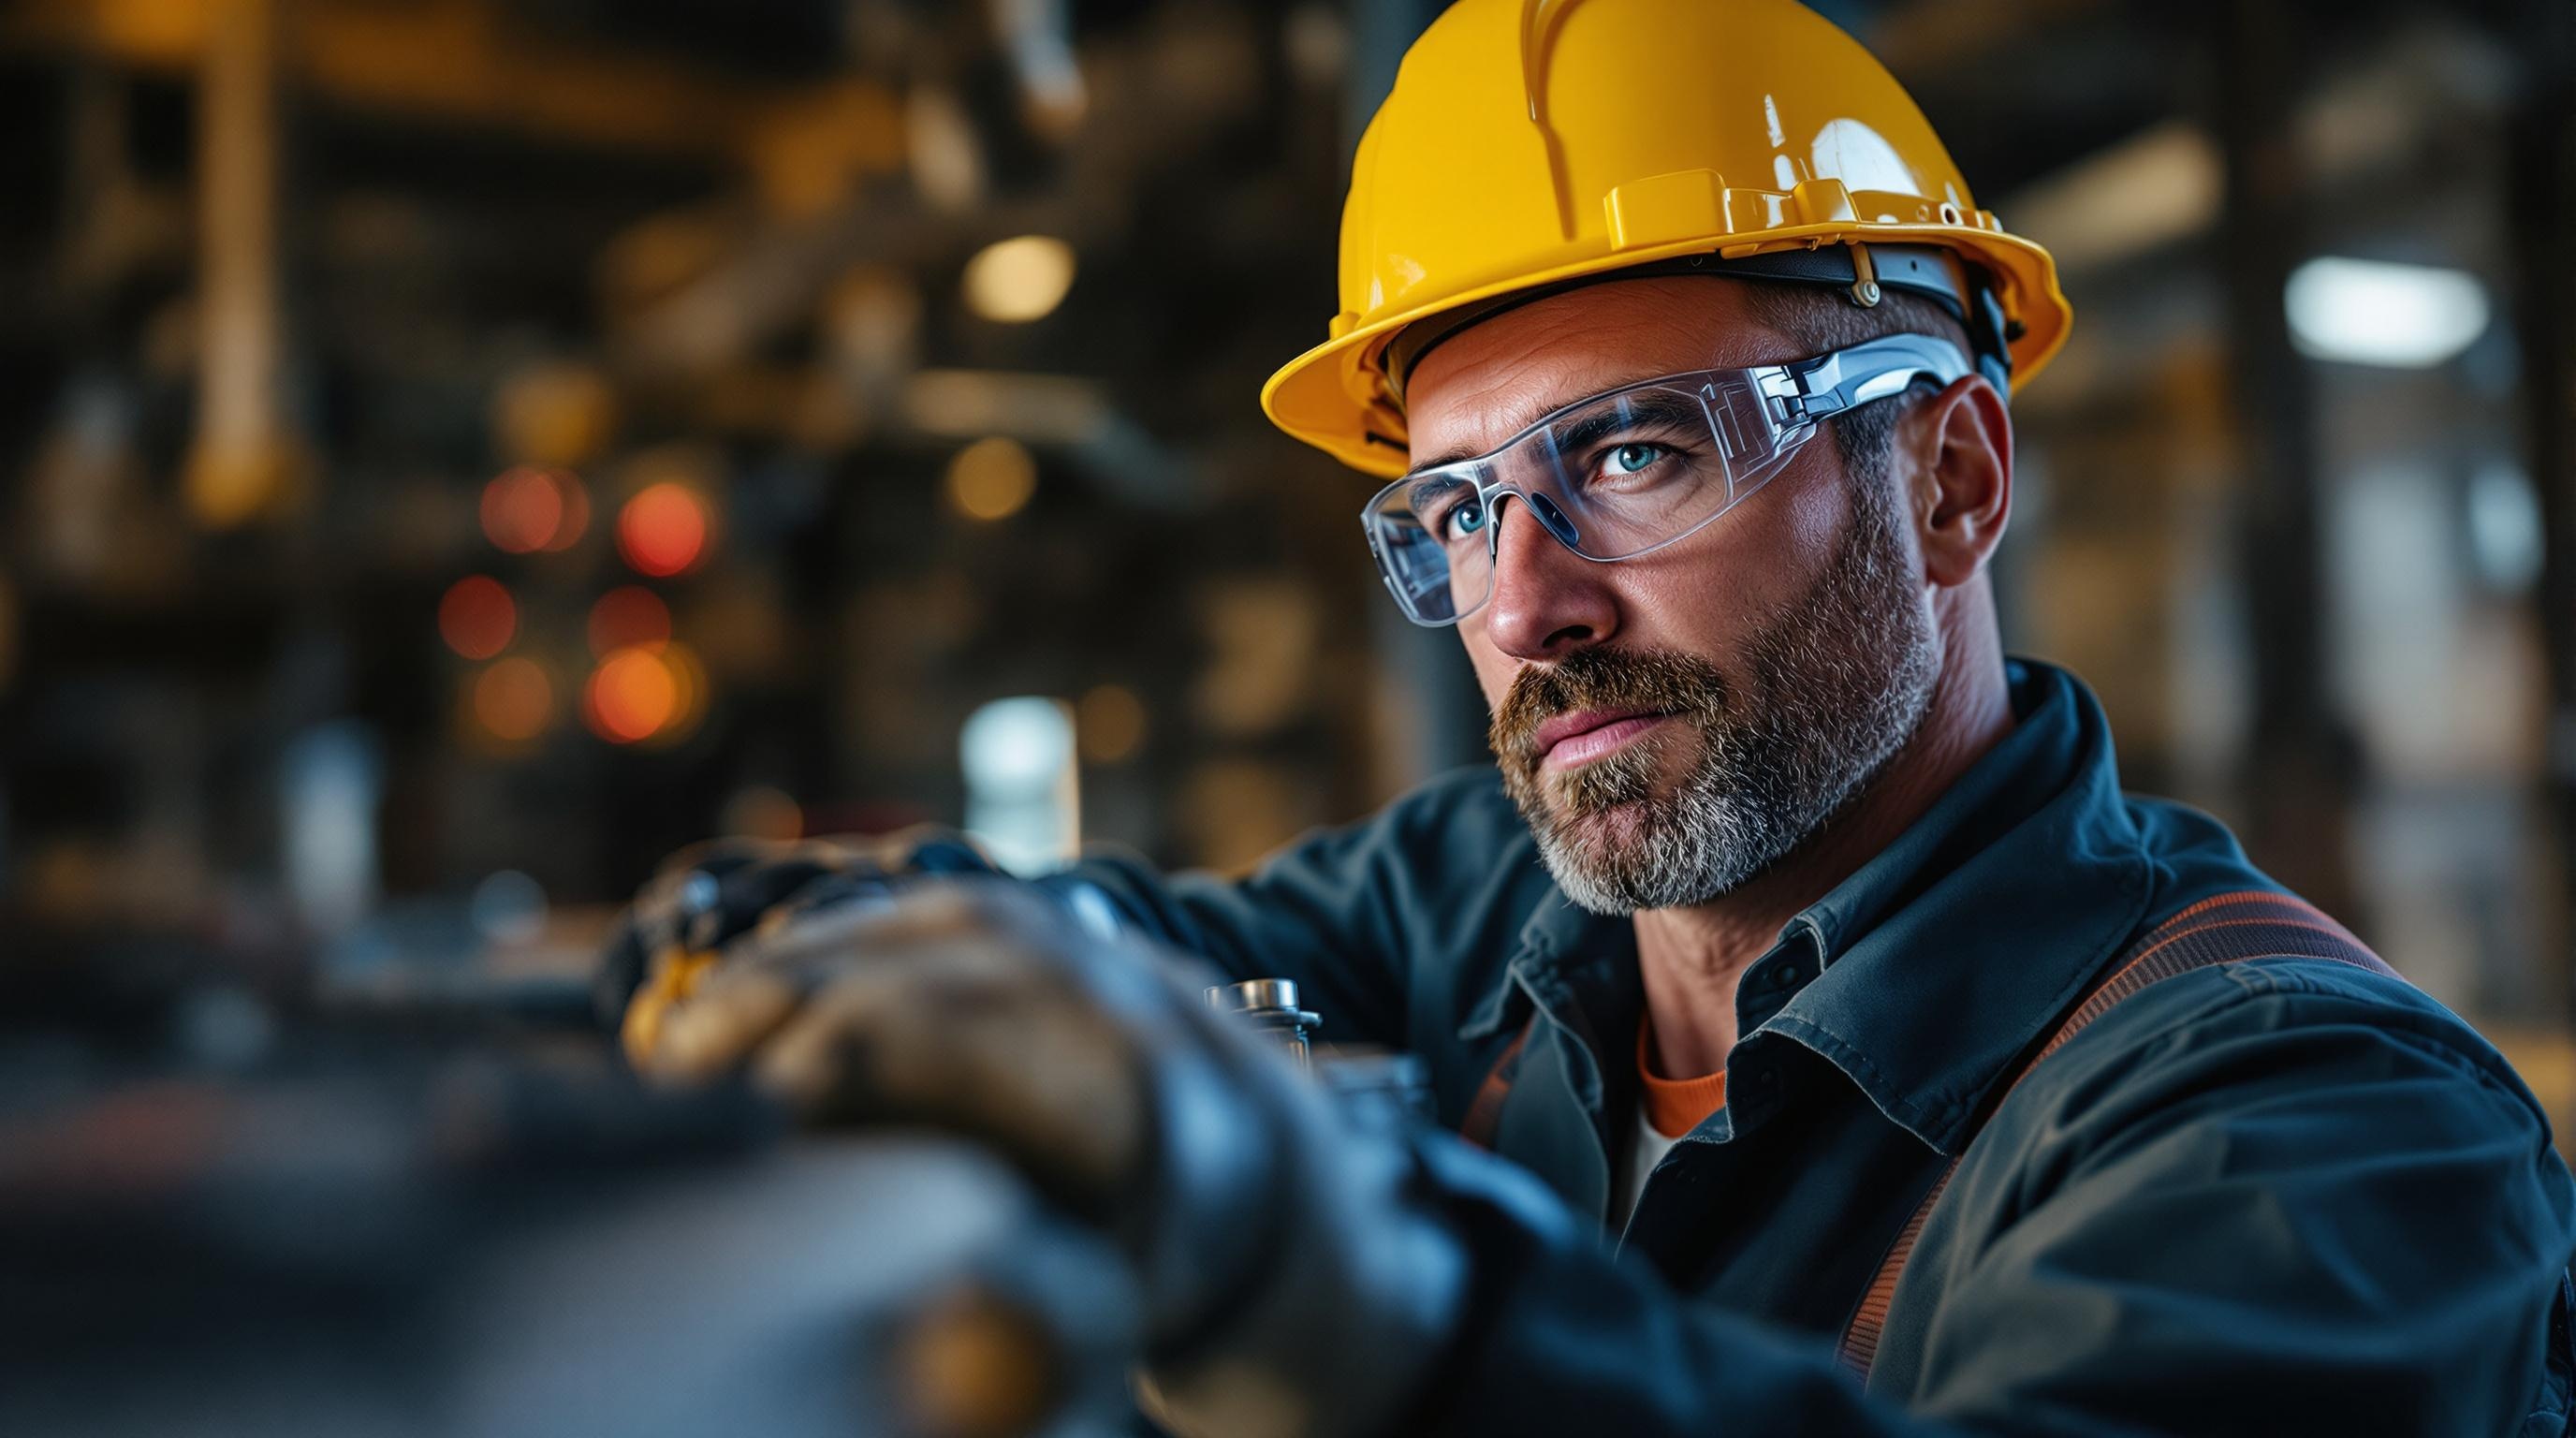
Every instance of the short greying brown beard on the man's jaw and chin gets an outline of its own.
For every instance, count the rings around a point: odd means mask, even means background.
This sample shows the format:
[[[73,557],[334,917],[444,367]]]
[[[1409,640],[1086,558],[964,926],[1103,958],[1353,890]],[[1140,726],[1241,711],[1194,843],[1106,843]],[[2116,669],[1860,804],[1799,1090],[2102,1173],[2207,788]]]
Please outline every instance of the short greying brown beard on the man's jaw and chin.
[[[1826,575],[1752,642],[1744,714],[1685,716],[1698,758],[1656,794],[1664,742],[1515,783],[1538,856],[1597,915],[1703,905],[1816,835],[1906,747],[1932,706],[1940,639],[1896,515],[1862,503]],[[1736,685],[1728,685],[1736,688]]]

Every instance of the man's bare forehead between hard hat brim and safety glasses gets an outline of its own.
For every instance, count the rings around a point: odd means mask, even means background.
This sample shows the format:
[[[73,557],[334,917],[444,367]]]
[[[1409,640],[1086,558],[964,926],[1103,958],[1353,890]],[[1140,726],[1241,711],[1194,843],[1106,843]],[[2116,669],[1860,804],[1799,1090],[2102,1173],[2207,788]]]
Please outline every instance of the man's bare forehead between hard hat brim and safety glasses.
[[[1440,340],[1404,387],[1412,469],[1473,459],[1638,379],[1790,358],[1739,281],[1659,276],[1551,294]]]

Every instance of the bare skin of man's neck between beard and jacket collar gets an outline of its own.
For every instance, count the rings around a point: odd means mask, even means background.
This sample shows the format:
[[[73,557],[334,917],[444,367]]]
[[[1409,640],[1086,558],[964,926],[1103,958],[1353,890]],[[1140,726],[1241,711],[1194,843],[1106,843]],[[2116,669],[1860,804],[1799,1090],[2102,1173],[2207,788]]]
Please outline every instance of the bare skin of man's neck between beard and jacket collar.
[[[1999,644],[1953,642],[1914,737],[1808,843],[1726,897],[1638,912],[1654,1072],[1695,1077],[1726,1067],[1744,969],[1770,951],[1788,920],[1896,843],[2009,732]]]

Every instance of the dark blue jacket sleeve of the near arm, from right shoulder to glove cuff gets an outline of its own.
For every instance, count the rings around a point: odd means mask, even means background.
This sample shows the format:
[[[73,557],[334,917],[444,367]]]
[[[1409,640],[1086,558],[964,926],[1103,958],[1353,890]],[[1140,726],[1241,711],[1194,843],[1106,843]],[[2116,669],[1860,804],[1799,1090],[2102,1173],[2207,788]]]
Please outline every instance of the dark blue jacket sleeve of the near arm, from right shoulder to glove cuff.
[[[1425,1417],[1891,1438],[2537,1428],[2535,1407],[2563,1412],[2545,1363],[2576,1247],[2548,1124],[2429,1000],[2311,969],[2159,984],[2174,992],[2123,1005],[2125,1036],[2097,1026],[2014,1093],[1899,1289],[1901,1392],[1862,1394],[1821,1343],[1685,1304],[1510,1201],[1476,1155],[1445,1155],[1486,1317]]]

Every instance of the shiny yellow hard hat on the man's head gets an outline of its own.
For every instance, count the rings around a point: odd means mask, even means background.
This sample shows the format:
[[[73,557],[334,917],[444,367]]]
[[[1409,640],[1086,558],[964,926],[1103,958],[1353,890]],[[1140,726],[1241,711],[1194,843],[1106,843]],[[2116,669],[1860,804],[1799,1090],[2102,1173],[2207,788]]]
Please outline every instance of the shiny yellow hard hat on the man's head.
[[[1419,356],[1461,317],[1646,265],[1839,283],[1862,304],[1880,281],[1950,294],[1984,369],[2014,384],[2074,320],[2048,250],[1976,209],[1914,98],[1814,10],[1458,0],[1360,137],[1342,312],[1262,410],[1401,474],[1399,338]]]

